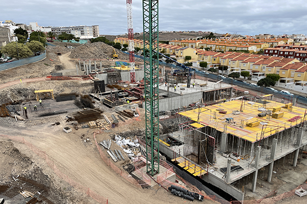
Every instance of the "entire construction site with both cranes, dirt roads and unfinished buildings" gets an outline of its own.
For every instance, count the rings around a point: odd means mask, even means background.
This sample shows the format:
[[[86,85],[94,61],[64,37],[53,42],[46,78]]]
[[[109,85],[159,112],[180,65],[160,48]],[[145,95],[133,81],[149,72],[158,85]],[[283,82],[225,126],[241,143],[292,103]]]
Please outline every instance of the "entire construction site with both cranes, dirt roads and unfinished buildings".
[[[305,202],[307,105],[159,64],[143,8],[145,56],[127,1],[127,53],[50,42],[1,71],[0,203]]]

